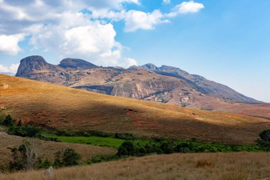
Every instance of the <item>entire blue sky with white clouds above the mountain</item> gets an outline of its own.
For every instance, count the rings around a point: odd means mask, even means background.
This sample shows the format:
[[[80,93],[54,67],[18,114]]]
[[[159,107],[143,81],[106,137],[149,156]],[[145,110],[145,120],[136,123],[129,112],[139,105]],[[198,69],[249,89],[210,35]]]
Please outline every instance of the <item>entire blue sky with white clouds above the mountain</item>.
[[[41,55],[153,63],[270,102],[269,0],[0,0],[0,73]]]

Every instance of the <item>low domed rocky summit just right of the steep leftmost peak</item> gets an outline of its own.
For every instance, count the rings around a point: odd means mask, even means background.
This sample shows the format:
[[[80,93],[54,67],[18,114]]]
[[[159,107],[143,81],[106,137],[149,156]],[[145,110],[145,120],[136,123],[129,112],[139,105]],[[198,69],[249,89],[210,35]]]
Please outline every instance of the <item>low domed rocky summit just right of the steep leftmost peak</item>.
[[[97,67],[97,65],[89,63],[86,60],[76,59],[76,58],[65,58],[61,60],[59,66],[61,68],[71,68],[71,69],[81,69],[81,70]]]

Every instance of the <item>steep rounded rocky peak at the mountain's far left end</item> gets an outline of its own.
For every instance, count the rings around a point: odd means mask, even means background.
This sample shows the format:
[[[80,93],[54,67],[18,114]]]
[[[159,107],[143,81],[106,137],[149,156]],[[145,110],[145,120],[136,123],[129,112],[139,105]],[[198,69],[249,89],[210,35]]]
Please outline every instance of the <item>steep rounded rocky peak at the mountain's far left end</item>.
[[[48,68],[50,68],[50,64],[48,64],[43,57],[32,55],[21,60],[16,76],[25,75],[34,70],[45,70]]]

